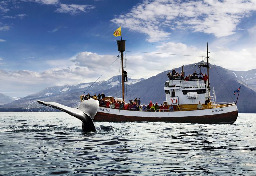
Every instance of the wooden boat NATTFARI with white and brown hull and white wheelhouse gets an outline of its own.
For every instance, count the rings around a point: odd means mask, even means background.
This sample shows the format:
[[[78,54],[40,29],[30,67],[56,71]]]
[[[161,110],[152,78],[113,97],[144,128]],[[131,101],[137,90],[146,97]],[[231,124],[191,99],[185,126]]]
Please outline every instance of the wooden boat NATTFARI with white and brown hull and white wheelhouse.
[[[123,66],[123,52],[125,40],[118,40],[118,51],[121,54],[121,67]],[[207,43],[207,63],[200,63],[201,67],[207,68],[208,79],[182,80],[168,79],[165,82],[165,96],[168,106],[174,107],[173,112],[148,112],[113,109],[100,106],[94,116],[94,121],[102,122],[127,122],[127,121],[164,121],[179,123],[201,124],[233,124],[238,116],[235,102],[217,103],[214,88],[209,84],[209,62]],[[182,67],[183,68],[183,67]],[[182,73],[184,71],[182,69]],[[124,75],[122,73],[122,100],[124,101]],[[202,109],[197,109],[198,102],[202,102]],[[207,102],[206,102],[207,101]],[[205,105],[204,102],[207,104]]]

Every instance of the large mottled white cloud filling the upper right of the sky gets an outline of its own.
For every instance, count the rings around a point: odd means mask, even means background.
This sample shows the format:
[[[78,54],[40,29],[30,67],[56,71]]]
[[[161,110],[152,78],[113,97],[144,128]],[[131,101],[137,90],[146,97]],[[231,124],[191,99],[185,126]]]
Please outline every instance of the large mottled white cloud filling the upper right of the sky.
[[[169,29],[187,29],[222,37],[234,34],[240,20],[255,10],[256,2],[252,0],[156,0],[144,1],[111,21],[147,34],[149,42],[168,38]]]

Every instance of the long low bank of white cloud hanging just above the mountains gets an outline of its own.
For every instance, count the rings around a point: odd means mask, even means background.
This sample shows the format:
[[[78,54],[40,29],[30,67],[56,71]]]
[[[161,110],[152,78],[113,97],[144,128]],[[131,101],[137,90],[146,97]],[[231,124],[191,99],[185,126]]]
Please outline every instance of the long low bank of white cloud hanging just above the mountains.
[[[203,55],[205,55],[205,48],[201,50],[195,46],[188,46],[183,43],[168,42],[157,46],[154,53],[201,56],[202,51]],[[209,51],[211,52],[211,64],[230,70],[249,70],[255,68],[255,64],[253,64],[255,58],[252,53],[256,51],[256,47],[244,48],[239,51],[217,47],[214,49],[209,48]],[[200,62],[203,59],[205,61],[204,57],[178,55],[138,54],[131,52],[126,52],[126,55],[127,72],[131,78],[149,78],[172,68]],[[244,60],[252,64],[244,64]],[[5,83],[1,86],[0,92],[8,92],[10,88],[13,89],[11,92],[38,92],[49,86],[94,82],[112,63],[114,64],[98,81],[107,80],[112,76],[118,75],[120,72],[120,57],[117,58],[116,55],[81,52],[70,59],[48,60],[46,62],[54,66],[54,68],[40,73],[29,70],[0,70],[0,82]]]

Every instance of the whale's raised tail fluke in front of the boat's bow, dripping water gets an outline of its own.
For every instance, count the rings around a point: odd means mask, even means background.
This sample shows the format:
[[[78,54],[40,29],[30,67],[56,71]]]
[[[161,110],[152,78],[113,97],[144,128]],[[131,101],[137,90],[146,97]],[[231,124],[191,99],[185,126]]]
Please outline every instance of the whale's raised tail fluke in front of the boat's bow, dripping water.
[[[93,124],[93,118],[96,115],[99,108],[99,101],[94,99],[84,100],[78,108],[71,108],[55,102],[44,102],[37,100],[38,103],[52,108],[59,109],[63,112],[70,114],[82,121],[82,128],[86,132],[96,131]]]

